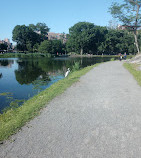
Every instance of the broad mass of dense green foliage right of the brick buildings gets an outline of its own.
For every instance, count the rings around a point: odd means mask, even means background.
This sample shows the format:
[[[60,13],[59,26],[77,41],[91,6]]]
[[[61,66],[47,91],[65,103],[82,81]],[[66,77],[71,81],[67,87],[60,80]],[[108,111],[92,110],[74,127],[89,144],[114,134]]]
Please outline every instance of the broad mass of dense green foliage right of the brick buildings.
[[[141,32],[138,33],[141,43]],[[128,30],[107,29],[94,24],[81,22],[70,28],[66,48],[68,52],[84,54],[116,55],[118,53],[135,54],[134,37]]]

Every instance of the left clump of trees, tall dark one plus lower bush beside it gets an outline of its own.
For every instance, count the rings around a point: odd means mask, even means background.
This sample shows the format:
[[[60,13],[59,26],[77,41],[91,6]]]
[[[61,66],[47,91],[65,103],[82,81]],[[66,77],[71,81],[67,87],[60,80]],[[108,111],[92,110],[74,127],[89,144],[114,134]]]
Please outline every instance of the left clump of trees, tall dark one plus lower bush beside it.
[[[47,33],[50,28],[45,23],[17,25],[12,32],[12,39],[17,43],[16,49],[23,52],[41,52],[48,55],[64,51],[61,40],[49,41]]]

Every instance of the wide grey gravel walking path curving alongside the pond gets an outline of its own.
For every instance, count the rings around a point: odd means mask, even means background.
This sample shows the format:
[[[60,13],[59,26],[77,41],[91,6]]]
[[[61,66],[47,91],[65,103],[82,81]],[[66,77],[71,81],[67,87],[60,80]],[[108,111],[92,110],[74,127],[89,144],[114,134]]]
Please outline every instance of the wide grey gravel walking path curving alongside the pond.
[[[1,158],[140,158],[141,88],[122,62],[99,65],[0,146]]]

